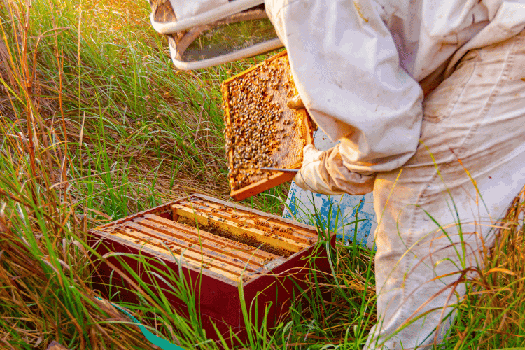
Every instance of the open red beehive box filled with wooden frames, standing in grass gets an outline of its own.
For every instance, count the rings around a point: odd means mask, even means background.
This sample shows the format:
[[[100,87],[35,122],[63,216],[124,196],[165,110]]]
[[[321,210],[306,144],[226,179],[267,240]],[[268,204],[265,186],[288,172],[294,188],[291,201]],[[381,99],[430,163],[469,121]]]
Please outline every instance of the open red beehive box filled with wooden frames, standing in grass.
[[[288,310],[297,292],[293,281],[301,286],[310,267],[330,272],[322,247],[315,251],[316,259],[304,259],[316,248],[315,228],[204,195],[163,204],[94,228],[90,233],[90,245],[115,266],[120,265],[116,258],[111,258],[111,253],[140,251],[148,258],[162,259],[176,275],[182,262],[183,274],[200,299],[197,309],[201,312],[202,327],[211,339],[218,339],[211,323],[224,337],[228,337],[229,328],[241,336],[244,334],[238,290],[241,281],[246,307],[250,309],[253,302],[252,310],[255,307],[258,310],[257,314],[252,311],[253,319],[262,320],[265,307],[271,303],[267,320],[267,326],[271,327]],[[333,246],[335,235],[330,241]],[[151,274],[137,260],[124,259],[143,281],[153,282]],[[155,266],[166,269],[161,264]],[[129,288],[129,283],[112,271],[106,263],[99,265],[102,290],[109,284],[110,276],[113,286]],[[133,279],[131,274],[128,278]],[[160,279],[155,282],[170,289]],[[133,300],[132,293],[125,288],[121,288],[120,294]],[[186,304],[173,293],[165,296],[174,308],[186,313]]]

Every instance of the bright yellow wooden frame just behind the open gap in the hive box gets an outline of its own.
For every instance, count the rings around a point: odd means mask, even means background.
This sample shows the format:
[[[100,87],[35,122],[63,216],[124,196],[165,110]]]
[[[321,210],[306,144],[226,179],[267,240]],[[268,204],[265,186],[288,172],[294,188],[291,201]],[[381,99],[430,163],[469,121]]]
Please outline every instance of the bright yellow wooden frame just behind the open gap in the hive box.
[[[221,218],[219,216],[215,216],[214,214],[207,214],[205,212],[202,213],[200,211],[195,211],[180,204],[173,204],[172,208],[175,215],[183,216],[190,220],[196,219],[197,222],[200,223],[200,225],[210,225],[211,223],[213,223],[214,225],[217,225],[219,228],[221,228],[221,230],[230,232],[237,237],[248,236],[251,239],[254,239],[255,241],[260,241],[262,243],[269,244],[274,248],[286,249],[287,251],[297,253],[298,251],[301,251],[303,248],[306,247],[305,244],[300,244],[292,239],[279,236],[274,237],[274,235],[269,235],[267,232],[258,230],[256,228],[239,228],[238,224],[235,223],[235,221],[231,221],[226,218]]]

